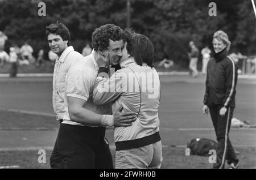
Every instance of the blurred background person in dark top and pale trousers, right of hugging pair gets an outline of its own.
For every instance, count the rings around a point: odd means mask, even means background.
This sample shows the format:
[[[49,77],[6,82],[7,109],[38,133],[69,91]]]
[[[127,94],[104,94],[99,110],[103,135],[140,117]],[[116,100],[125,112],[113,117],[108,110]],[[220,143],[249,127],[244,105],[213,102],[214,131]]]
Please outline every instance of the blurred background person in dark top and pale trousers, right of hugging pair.
[[[189,46],[191,48],[191,51],[188,53],[188,57],[190,59],[189,61],[189,69],[192,70],[192,76],[196,78],[199,75],[199,72],[197,71],[197,61],[199,57],[199,50],[196,48],[196,45],[193,41],[189,42]]]

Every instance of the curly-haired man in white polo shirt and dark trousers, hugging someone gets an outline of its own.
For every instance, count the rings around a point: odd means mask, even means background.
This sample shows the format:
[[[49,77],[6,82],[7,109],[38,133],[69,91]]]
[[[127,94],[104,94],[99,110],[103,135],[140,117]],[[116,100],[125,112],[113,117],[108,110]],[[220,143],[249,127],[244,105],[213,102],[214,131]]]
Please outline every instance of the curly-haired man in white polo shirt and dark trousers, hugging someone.
[[[124,32],[113,24],[97,28],[92,35],[92,54],[68,71],[65,113],[57,138],[65,168],[113,168],[105,126],[131,126],[135,115],[119,112],[122,108],[110,115],[110,105],[93,104],[92,92],[99,68],[96,59],[101,58],[98,53],[110,52],[111,62],[117,64],[124,41]]]

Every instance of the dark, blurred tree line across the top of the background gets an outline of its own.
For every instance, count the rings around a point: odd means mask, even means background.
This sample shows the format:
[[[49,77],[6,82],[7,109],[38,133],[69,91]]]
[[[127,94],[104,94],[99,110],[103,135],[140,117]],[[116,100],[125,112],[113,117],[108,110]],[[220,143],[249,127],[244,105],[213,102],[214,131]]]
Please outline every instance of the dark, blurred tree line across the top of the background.
[[[38,15],[38,3],[46,4],[46,16]],[[217,15],[209,16],[215,2]],[[1,0],[0,31],[9,40],[6,49],[24,41],[49,50],[45,27],[57,20],[67,25],[71,44],[79,52],[95,28],[106,23],[126,28],[127,0]],[[148,36],[155,45],[155,60],[172,59],[187,66],[188,42],[199,49],[211,46],[213,33],[228,33],[231,52],[255,55],[256,19],[249,0],[130,0],[130,26]]]

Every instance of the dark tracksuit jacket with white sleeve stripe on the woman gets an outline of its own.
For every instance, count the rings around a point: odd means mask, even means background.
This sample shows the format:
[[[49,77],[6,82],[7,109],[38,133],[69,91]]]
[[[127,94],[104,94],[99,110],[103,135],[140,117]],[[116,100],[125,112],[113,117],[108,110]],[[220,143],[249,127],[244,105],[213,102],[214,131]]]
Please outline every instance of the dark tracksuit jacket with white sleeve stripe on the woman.
[[[235,108],[238,66],[226,49],[213,53],[207,65],[204,104]]]

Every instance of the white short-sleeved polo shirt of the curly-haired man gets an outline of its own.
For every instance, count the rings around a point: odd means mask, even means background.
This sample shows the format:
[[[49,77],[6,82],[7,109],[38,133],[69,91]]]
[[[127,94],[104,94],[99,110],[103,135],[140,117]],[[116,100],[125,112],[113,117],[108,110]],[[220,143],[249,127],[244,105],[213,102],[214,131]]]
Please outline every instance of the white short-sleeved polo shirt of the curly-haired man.
[[[109,104],[99,106],[93,103],[92,92],[97,74],[98,65],[94,59],[94,50],[90,55],[84,57],[84,61],[76,63],[76,65],[68,71],[65,81],[65,114],[62,123],[82,126],[81,123],[74,122],[69,117],[67,97],[85,100],[86,105],[84,108],[97,114],[111,114],[111,106]]]

